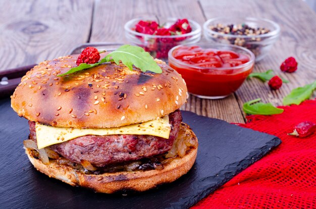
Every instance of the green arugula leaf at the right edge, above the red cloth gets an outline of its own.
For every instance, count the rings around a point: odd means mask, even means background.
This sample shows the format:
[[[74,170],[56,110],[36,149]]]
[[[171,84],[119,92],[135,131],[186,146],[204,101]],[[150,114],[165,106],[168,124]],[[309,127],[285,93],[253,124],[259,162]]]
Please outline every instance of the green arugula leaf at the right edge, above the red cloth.
[[[309,99],[315,89],[316,81],[303,87],[294,88],[283,98],[283,105],[299,105],[302,101]]]

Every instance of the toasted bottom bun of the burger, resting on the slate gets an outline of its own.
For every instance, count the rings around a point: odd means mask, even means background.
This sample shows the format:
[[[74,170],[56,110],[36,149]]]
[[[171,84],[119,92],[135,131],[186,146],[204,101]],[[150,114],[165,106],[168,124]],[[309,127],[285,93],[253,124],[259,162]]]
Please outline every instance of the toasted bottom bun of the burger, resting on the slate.
[[[190,135],[197,140],[192,130],[190,130]],[[59,165],[52,161],[49,165],[44,165],[40,160],[33,158],[30,149],[26,149],[25,152],[33,166],[51,178],[59,179],[72,186],[86,187],[96,192],[114,193],[122,190],[145,191],[157,185],[175,181],[192,168],[196,159],[197,147],[190,148],[182,158],[175,158],[160,171],[116,172],[99,175],[83,174],[68,165]]]

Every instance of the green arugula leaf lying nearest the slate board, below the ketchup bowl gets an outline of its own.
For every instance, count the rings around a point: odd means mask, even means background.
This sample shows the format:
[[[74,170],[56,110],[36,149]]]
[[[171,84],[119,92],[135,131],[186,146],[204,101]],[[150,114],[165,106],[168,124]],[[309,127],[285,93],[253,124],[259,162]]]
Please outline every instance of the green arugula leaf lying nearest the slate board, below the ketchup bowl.
[[[271,103],[258,102],[261,98],[247,101],[242,106],[246,114],[251,115],[276,115],[283,113],[283,109],[274,107]]]

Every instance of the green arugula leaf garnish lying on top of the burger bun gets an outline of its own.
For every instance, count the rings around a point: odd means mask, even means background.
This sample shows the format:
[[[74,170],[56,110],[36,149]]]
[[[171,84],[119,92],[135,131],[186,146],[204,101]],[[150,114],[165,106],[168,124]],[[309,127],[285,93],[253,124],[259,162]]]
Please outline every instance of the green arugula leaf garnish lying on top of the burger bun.
[[[94,64],[81,63],[78,67],[71,68],[66,73],[57,75],[64,76],[77,71],[89,69],[106,62],[115,62],[117,65],[120,61],[127,66],[130,70],[133,70],[133,65],[139,68],[142,72],[151,71],[154,73],[162,73],[162,69],[157,65],[157,63],[152,59],[152,57],[147,53],[142,47],[122,45],[118,49],[112,51],[105,58],[101,59],[99,62]]]

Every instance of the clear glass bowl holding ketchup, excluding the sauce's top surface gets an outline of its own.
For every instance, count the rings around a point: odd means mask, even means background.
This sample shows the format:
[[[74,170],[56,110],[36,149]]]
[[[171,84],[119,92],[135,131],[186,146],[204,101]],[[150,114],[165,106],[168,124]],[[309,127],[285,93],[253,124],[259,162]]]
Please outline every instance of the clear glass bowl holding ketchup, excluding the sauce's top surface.
[[[249,61],[235,67],[200,67],[197,66],[198,64],[188,64],[174,57],[175,51],[181,46],[200,46],[202,49],[215,49],[217,51],[230,50],[245,55],[249,58]],[[191,54],[198,56],[193,49]],[[168,62],[170,67],[182,75],[191,94],[200,98],[219,99],[230,95],[241,86],[253,70],[254,55],[250,50],[236,45],[219,43],[185,44],[175,46],[169,51]]]

